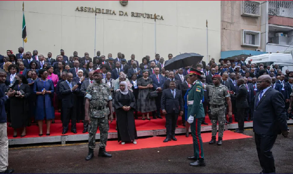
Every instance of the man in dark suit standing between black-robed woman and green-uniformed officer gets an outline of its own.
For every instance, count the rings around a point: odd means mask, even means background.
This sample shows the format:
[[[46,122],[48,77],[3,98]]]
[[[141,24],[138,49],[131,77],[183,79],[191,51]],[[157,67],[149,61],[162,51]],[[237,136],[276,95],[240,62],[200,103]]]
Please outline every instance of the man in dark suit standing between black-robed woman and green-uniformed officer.
[[[180,116],[183,115],[183,97],[180,90],[175,89],[176,84],[174,81],[169,82],[169,89],[163,91],[161,108],[163,114],[166,115],[166,134],[167,137],[163,142],[168,142],[175,138],[175,129],[180,112]]]

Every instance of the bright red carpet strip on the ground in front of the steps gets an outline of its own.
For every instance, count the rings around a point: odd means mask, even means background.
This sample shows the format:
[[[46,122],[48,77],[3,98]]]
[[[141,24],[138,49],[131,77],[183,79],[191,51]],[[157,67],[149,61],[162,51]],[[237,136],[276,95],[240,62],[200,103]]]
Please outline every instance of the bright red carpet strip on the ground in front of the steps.
[[[203,133],[201,134],[203,142],[209,142],[211,138],[211,133]],[[223,140],[229,140],[229,139],[241,139],[241,138],[251,138],[252,136],[244,135],[244,134],[238,134],[231,131],[225,131]],[[150,138],[142,138],[137,139],[137,144],[133,143],[126,143],[122,145],[121,143],[118,143],[117,141],[108,141],[107,142],[107,151],[124,151],[124,150],[134,150],[134,149],[144,149],[144,148],[156,148],[156,147],[163,147],[163,146],[176,146],[176,145],[182,145],[182,144],[192,144],[192,136],[189,135],[189,137],[185,137],[185,135],[177,135],[177,141],[168,141],[167,143],[164,143],[163,140],[166,137],[162,136],[154,136]]]

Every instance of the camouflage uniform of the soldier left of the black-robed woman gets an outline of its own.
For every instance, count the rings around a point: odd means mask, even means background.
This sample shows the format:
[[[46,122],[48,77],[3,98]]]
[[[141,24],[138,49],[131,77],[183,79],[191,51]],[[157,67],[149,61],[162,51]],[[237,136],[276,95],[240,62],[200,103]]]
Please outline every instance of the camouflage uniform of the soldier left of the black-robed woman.
[[[107,106],[108,101],[112,99],[111,88],[105,83],[91,83],[87,90],[85,98],[90,100],[88,126],[88,148],[96,147],[97,128],[100,129],[100,149],[99,156],[105,156],[105,147],[108,138],[108,115],[110,114]],[[110,156],[107,156],[110,157]]]

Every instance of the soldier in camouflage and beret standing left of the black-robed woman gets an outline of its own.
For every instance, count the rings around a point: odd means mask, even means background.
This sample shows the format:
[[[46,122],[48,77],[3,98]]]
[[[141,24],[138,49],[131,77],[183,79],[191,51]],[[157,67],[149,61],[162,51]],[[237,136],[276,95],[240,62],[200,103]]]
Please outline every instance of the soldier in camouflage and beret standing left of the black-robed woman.
[[[88,126],[88,155],[85,158],[86,160],[90,160],[94,156],[98,127],[101,135],[98,156],[112,157],[112,155],[107,154],[105,150],[108,138],[109,114],[109,119],[111,122],[113,121],[111,88],[102,82],[102,73],[102,70],[96,70],[94,72],[95,82],[87,87],[85,95],[85,120],[90,123]]]

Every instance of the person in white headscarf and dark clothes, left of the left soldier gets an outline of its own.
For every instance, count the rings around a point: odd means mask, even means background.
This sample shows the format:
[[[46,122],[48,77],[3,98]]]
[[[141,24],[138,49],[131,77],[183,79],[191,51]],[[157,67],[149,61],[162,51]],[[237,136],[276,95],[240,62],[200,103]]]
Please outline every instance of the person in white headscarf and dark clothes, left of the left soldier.
[[[81,90],[82,84],[86,80],[84,77],[84,71],[78,70],[77,77],[74,77],[72,81],[78,84],[78,88]],[[79,123],[80,121],[84,120],[84,96],[81,94],[77,97],[77,117],[76,122]]]

